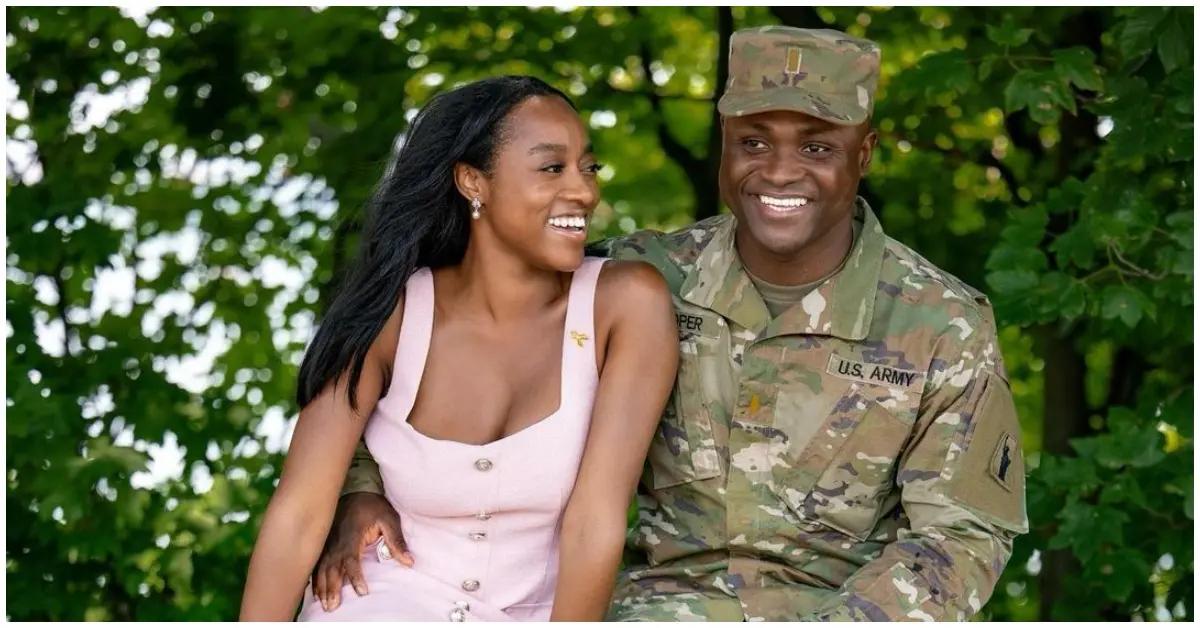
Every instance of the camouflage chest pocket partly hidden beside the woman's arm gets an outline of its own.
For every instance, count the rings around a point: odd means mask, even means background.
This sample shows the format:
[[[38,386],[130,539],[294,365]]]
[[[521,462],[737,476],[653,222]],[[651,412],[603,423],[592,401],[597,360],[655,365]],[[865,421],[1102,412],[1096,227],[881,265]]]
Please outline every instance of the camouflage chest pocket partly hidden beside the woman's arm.
[[[679,341],[679,376],[647,457],[655,490],[721,474],[712,417],[716,402],[703,373],[720,340],[689,334]]]

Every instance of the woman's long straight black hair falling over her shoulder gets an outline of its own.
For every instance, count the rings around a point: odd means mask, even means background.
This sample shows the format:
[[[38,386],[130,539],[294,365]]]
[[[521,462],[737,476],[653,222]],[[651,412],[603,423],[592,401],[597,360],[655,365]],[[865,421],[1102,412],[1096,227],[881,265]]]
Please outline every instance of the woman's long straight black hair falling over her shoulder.
[[[403,146],[367,202],[358,259],[325,313],[300,364],[296,403],[304,408],[349,369],[350,407],[371,343],[420,267],[462,261],[470,233],[469,204],[454,167],[491,174],[505,142],[504,119],[533,96],[562,91],[526,76],[485,78],[439,94],[413,120]]]

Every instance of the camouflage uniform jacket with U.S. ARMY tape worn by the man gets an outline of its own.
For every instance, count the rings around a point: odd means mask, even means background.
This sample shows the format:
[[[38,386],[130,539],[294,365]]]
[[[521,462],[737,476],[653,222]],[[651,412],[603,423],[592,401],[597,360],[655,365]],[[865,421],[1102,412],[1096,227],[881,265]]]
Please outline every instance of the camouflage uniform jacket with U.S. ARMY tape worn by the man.
[[[612,241],[674,294],[680,365],[613,620],[964,620],[1027,531],[986,298],[883,234],[772,319],[734,219]]]

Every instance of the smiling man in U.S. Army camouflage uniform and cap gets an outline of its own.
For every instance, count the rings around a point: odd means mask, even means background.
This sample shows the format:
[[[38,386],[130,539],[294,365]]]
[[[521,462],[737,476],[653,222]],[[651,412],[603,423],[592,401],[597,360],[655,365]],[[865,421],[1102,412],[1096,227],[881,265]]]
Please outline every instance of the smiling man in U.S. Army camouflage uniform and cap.
[[[768,26],[730,47],[732,215],[604,243],[662,273],[680,339],[610,618],[966,620],[1027,531],[991,307],[856,196],[874,43]],[[380,492],[356,465],[347,490]],[[386,502],[344,501],[330,582],[396,536]]]

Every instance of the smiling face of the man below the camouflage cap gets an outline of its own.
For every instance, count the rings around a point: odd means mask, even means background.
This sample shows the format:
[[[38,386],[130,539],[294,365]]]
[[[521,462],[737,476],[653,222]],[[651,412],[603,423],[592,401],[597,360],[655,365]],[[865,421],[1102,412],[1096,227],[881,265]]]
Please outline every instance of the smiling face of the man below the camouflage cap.
[[[742,246],[791,258],[853,216],[875,132],[790,110],[724,120],[721,199]],[[744,235],[749,234],[749,238]]]

